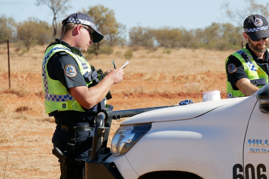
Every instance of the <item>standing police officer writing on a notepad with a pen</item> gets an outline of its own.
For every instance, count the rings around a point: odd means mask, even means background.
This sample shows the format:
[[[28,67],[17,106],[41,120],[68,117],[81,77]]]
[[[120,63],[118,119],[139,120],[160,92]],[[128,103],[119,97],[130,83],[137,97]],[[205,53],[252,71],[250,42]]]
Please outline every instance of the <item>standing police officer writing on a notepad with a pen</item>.
[[[62,21],[61,38],[47,47],[43,57],[45,111],[55,118],[52,143],[59,151],[55,155],[59,158],[62,179],[83,177],[95,115],[108,106],[110,87],[123,78],[123,69],[103,73],[81,54],[103,38],[88,15],[73,13]]]

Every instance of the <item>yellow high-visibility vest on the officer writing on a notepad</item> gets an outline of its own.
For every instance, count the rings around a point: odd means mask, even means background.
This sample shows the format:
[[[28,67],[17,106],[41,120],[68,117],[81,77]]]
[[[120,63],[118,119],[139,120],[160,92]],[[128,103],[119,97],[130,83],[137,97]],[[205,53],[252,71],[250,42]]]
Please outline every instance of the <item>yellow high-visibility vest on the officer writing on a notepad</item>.
[[[45,97],[45,112],[46,114],[51,113],[53,111],[67,111],[67,110],[75,110],[86,112],[85,108],[81,107],[81,105],[75,100],[75,98],[67,91],[66,87],[58,80],[53,80],[49,77],[47,71],[47,62],[52,57],[53,54],[57,52],[66,52],[70,54],[77,62],[79,70],[82,75],[90,73],[92,70],[90,64],[84,59],[82,55],[75,54],[71,51],[71,49],[66,48],[64,45],[56,44],[46,49],[46,52],[43,57],[42,62],[42,81],[43,81],[43,93]],[[70,74],[72,72],[72,68],[67,67],[70,70]],[[93,68],[94,69],[94,68]],[[95,70],[96,71],[96,70]],[[96,75],[95,75],[96,76]],[[99,82],[99,81],[98,81]],[[85,82],[88,86],[92,81]],[[104,102],[104,101],[101,101]],[[87,112],[96,112],[97,106],[93,107]]]

